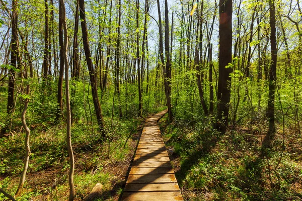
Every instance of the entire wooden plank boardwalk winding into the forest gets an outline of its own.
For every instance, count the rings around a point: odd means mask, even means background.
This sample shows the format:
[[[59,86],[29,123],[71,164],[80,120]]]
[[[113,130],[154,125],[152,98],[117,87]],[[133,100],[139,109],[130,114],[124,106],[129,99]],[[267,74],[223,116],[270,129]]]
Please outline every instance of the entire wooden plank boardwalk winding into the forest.
[[[121,200],[183,200],[157,124],[166,113],[145,121]]]

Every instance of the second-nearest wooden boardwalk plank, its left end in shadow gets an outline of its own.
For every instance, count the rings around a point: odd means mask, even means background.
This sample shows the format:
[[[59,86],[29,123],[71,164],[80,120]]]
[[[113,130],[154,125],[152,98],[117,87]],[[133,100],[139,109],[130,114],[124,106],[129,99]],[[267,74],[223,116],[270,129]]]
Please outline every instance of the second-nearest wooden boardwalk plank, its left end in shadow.
[[[125,186],[126,192],[143,191],[180,191],[177,183],[128,183]]]

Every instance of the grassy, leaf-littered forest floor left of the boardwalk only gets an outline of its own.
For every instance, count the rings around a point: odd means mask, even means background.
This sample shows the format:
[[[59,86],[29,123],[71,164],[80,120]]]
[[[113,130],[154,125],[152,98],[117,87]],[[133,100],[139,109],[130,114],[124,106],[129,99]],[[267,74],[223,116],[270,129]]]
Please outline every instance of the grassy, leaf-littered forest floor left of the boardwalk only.
[[[47,125],[47,124],[45,124]],[[31,126],[31,156],[26,183],[18,200],[67,200],[69,160],[65,144],[65,125]],[[96,183],[103,184],[100,200],[117,200],[125,183],[125,175],[142,130],[143,119],[117,123],[109,141],[93,136],[84,124],[72,126],[75,160],[75,200],[82,200]],[[88,129],[88,131],[87,131]],[[24,137],[20,133],[0,139],[0,186],[10,194],[16,192],[24,159]],[[97,133],[97,131],[94,131]],[[126,146],[124,144],[131,134]],[[0,194],[0,200],[5,200]]]

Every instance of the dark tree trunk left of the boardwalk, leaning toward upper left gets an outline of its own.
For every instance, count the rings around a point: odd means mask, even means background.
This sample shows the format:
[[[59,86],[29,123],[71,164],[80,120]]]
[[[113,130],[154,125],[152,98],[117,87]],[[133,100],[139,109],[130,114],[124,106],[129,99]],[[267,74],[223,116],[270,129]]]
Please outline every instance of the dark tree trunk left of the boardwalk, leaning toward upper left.
[[[97,116],[98,125],[100,128],[100,132],[102,133],[102,138],[105,138],[102,108],[101,108],[101,104],[99,101],[95,70],[93,67],[93,62],[91,59],[91,53],[90,53],[90,48],[89,48],[88,29],[87,29],[86,18],[85,18],[84,0],[79,0],[79,3],[80,3],[81,27],[82,27],[82,34],[83,34],[83,45],[84,45],[84,51],[85,51],[85,56],[86,56],[86,62],[87,62],[88,70],[89,70],[93,103],[94,103],[94,107],[95,107],[95,111],[96,111],[96,116]]]

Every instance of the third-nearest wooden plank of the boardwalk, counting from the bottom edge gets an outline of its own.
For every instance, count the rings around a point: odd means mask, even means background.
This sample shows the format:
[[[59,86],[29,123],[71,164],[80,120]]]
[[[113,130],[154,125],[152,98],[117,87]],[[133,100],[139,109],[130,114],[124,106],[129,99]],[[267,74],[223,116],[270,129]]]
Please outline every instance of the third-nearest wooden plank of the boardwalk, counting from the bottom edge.
[[[126,183],[177,183],[174,174],[129,174]]]

